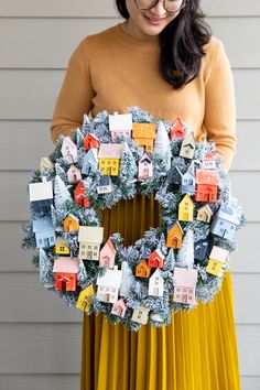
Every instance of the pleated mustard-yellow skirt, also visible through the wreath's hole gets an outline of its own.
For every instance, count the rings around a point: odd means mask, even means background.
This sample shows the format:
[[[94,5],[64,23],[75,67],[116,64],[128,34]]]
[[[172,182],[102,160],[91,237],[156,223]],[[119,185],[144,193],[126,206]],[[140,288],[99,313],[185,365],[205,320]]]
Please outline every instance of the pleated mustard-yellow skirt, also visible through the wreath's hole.
[[[126,246],[159,224],[152,197],[104,214],[105,236],[119,231]],[[169,326],[136,333],[84,314],[82,354],[82,390],[240,390],[230,272],[213,303],[174,313]]]

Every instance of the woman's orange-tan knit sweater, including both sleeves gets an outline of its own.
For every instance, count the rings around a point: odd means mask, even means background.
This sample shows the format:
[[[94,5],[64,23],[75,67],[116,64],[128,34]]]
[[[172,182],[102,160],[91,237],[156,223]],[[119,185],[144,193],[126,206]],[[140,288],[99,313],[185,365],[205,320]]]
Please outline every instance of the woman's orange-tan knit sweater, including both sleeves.
[[[198,76],[175,90],[159,74],[158,41],[128,35],[120,24],[87,36],[67,66],[51,126],[53,141],[80,127],[84,113],[122,113],[139,106],[167,120],[180,117],[197,140],[216,143],[228,169],[236,147],[232,75],[219,40],[212,37],[205,51]]]

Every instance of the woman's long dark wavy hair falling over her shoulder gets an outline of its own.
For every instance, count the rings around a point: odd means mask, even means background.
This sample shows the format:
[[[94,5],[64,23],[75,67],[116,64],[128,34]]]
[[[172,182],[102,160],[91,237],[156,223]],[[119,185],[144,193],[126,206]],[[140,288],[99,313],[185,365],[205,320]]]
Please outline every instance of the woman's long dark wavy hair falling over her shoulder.
[[[210,39],[210,29],[206,24],[204,13],[199,9],[201,0],[186,0],[186,6],[178,15],[166,25],[160,34],[161,76],[178,89],[191,83],[198,74],[203,46]],[[118,11],[129,19],[126,0],[116,0]]]

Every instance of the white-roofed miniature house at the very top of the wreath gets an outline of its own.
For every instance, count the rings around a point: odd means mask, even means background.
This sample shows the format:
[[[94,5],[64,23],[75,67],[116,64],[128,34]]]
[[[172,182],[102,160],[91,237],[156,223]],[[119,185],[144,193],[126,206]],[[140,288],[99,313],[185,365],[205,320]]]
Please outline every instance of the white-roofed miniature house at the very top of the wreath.
[[[117,138],[124,136],[131,138],[132,131],[132,115],[131,113],[118,113],[113,112],[108,117],[109,130],[111,132],[112,142],[117,141]]]

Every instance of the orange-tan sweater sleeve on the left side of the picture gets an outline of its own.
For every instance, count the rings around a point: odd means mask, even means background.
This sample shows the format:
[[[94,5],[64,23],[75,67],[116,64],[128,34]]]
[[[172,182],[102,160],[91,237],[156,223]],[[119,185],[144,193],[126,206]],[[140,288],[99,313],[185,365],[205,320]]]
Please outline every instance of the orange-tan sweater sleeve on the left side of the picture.
[[[84,113],[90,111],[95,91],[85,46],[86,40],[79,43],[69,58],[51,124],[53,142],[59,134],[69,134],[73,129],[82,127]]]

